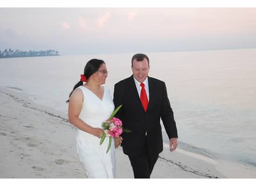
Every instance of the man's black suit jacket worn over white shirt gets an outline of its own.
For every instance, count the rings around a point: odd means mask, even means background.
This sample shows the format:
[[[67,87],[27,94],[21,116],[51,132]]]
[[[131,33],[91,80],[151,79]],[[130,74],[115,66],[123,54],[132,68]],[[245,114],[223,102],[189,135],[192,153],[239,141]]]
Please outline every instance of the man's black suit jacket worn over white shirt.
[[[121,135],[123,152],[130,156],[141,153],[145,140],[147,140],[150,154],[162,152],[160,118],[169,139],[178,137],[165,83],[148,77],[148,86],[149,103],[145,112],[133,75],[115,84],[114,104],[115,107],[122,105],[115,117],[122,120],[123,127],[131,131],[131,133],[122,133]],[[145,138],[146,131],[147,138]]]

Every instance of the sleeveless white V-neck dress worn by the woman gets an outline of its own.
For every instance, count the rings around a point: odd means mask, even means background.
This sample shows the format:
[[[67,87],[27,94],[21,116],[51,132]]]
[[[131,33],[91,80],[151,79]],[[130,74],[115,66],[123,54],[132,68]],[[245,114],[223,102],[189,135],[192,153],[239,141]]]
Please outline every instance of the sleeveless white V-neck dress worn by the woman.
[[[84,86],[79,86],[84,94],[84,102],[79,118],[92,127],[101,128],[103,121],[113,113],[115,106],[110,91],[104,87],[104,95],[100,100]],[[109,138],[105,138],[100,146],[99,138],[77,129],[76,146],[79,158],[85,167],[88,178],[115,178],[115,143],[112,139],[108,148]]]

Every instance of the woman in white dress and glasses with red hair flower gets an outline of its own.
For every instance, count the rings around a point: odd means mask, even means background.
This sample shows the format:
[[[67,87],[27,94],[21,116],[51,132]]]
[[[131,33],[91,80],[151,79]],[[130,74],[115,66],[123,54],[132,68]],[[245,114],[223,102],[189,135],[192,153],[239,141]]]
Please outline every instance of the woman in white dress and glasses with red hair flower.
[[[77,153],[88,178],[115,178],[115,145],[121,141],[115,140],[108,153],[108,138],[100,146],[101,124],[115,109],[110,91],[101,86],[107,77],[103,60],[89,60],[67,100],[68,119],[77,127]]]

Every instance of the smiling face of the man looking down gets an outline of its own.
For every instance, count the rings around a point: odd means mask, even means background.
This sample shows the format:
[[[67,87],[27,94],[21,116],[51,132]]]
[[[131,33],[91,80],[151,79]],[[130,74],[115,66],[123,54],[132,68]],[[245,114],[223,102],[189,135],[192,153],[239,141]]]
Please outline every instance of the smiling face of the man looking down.
[[[137,61],[136,59],[134,59],[132,71],[135,79],[142,83],[148,77],[148,60],[146,58],[144,58],[142,61]]]

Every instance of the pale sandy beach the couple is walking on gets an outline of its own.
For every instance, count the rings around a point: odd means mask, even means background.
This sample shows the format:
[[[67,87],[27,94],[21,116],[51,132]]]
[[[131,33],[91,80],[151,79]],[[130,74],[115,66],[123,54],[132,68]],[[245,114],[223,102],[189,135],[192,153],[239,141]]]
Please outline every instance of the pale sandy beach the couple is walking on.
[[[86,178],[76,154],[76,129],[66,113],[1,87],[0,126],[0,178]],[[133,178],[121,147],[115,154],[117,178]],[[164,148],[151,178],[231,178],[218,171],[220,166],[214,159]]]

